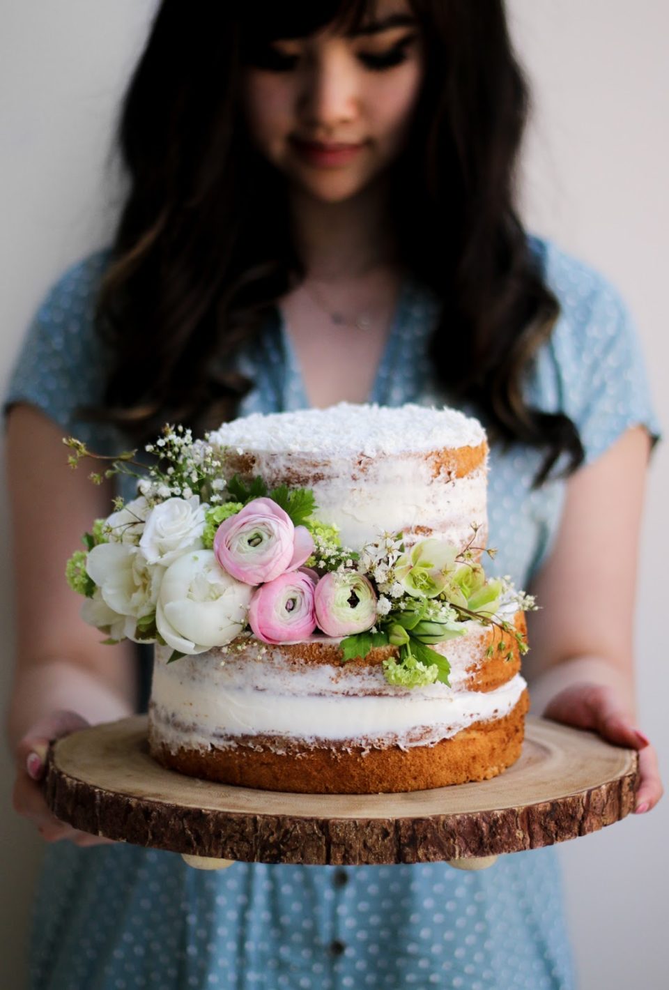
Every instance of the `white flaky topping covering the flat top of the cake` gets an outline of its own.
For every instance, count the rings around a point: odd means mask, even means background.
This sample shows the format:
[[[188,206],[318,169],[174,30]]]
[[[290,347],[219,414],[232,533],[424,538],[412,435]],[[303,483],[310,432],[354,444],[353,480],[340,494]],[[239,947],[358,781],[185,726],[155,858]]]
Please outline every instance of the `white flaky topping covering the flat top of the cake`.
[[[407,404],[396,408],[340,402],[328,409],[250,416],[224,423],[210,443],[242,450],[317,452],[326,456],[402,453],[479,446],[478,420],[455,409]]]

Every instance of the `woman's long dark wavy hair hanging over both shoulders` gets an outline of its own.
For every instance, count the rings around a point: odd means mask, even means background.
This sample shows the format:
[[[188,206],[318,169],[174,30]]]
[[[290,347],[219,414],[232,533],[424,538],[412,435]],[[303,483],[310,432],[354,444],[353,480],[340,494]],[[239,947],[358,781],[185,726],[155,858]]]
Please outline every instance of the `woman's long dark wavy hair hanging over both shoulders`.
[[[249,40],[355,27],[369,0],[163,0],[128,89],[119,142],[129,177],[98,305],[116,355],[100,415],[136,442],[166,419],[196,430],[236,415],[231,371],[277,300],[304,277],[285,182],[247,138],[239,106]],[[426,75],[393,166],[392,221],[406,271],[442,300],[439,380],[493,442],[583,459],[574,424],[531,408],[524,378],[559,306],[516,210],[528,94],[503,0],[411,0]]]

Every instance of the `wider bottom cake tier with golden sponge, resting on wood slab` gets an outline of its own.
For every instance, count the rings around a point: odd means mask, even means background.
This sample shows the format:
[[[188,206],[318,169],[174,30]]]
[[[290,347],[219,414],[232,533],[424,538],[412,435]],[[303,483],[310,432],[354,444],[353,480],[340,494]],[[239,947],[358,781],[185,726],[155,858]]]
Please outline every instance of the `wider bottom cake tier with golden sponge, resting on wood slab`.
[[[244,640],[173,663],[156,647],[150,752],[189,776],[296,793],[489,779],[521,754],[528,696],[513,635],[468,627],[438,644],[450,683],[411,690],[384,677],[392,646],[346,663],[335,641],[318,637]]]

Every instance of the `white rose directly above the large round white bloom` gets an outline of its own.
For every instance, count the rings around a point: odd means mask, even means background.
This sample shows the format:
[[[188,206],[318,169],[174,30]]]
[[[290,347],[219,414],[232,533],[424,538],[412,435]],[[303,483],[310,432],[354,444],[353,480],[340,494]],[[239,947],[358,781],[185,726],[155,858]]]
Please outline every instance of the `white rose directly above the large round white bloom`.
[[[202,546],[205,512],[198,495],[189,499],[170,498],[149,512],[140,540],[140,549],[148,563],[167,567],[190,549]]]

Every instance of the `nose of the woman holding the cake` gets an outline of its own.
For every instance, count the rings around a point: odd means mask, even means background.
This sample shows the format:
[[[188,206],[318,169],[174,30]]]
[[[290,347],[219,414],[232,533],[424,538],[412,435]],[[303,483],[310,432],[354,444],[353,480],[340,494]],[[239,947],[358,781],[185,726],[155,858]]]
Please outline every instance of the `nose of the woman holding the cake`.
[[[330,130],[357,116],[357,73],[345,56],[333,52],[313,61],[305,73],[300,110],[309,126]]]

